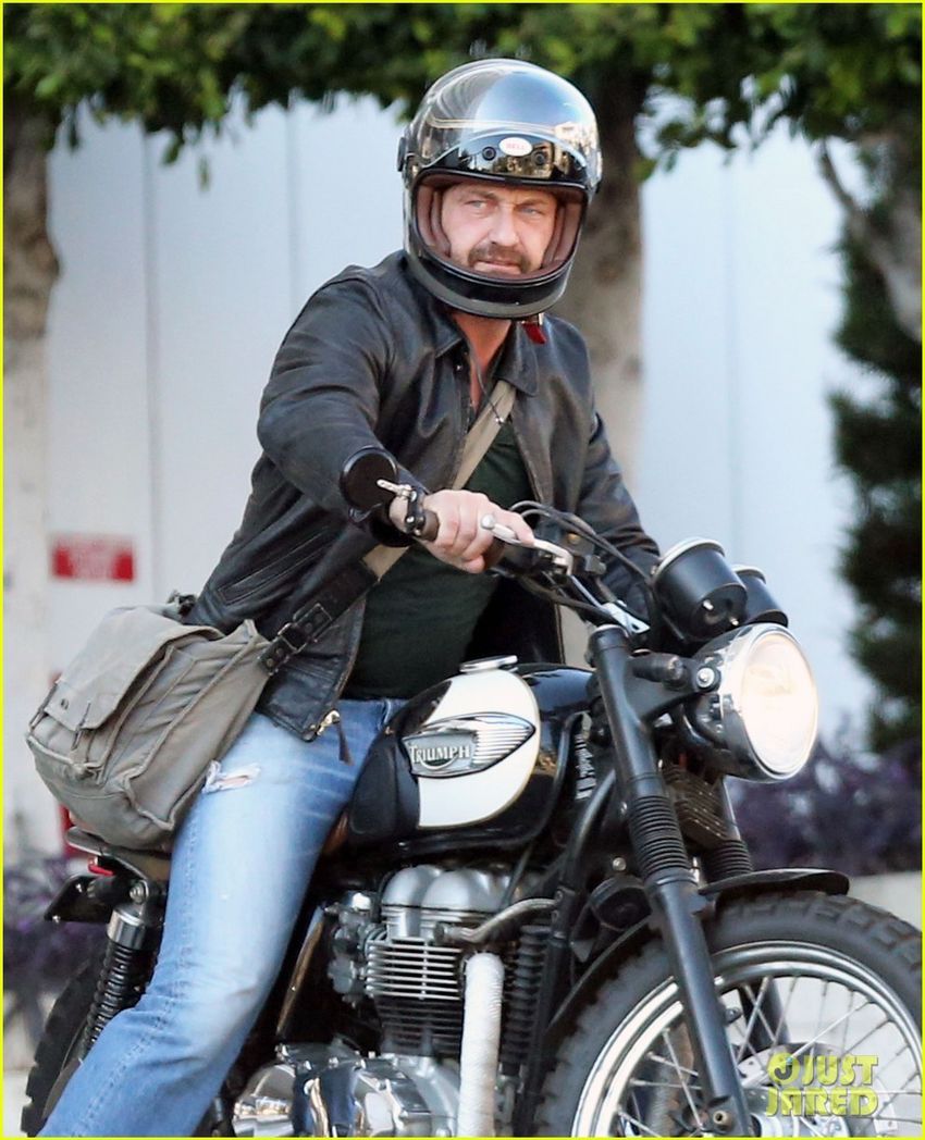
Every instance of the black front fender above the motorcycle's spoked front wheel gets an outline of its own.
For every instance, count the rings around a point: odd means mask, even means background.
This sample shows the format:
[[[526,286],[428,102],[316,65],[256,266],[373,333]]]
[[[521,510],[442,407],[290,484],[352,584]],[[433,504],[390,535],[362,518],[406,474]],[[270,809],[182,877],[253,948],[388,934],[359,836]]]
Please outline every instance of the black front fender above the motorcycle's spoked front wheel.
[[[721,907],[733,898],[755,898],[772,891],[795,894],[798,890],[819,890],[826,895],[846,895],[849,886],[847,876],[842,874],[841,871],[826,871],[817,868],[780,868],[771,871],[749,871],[747,874],[736,874],[728,879],[720,879],[717,882],[708,882],[700,887],[700,894],[714,907]],[[565,1036],[575,1015],[584,1005],[587,996],[597,990],[601,978],[615,974],[620,961],[636,953],[654,938],[658,938],[658,931],[647,918],[624,931],[616,942],[598,955],[557,1009],[546,1031],[547,1047],[554,1047]]]

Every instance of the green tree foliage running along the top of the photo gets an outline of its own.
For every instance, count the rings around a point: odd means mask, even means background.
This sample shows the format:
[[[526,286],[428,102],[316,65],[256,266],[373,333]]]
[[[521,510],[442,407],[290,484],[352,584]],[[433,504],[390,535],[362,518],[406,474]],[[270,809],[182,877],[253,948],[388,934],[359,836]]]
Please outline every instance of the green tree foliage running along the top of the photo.
[[[220,129],[234,91],[251,111],[294,96],[374,95],[413,109],[471,55],[519,55],[593,95],[614,75],[639,108],[687,100],[668,148],[779,120],[810,138],[861,140],[917,121],[917,5],[8,5],[8,95],[75,130],[140,121],[178,142]]]

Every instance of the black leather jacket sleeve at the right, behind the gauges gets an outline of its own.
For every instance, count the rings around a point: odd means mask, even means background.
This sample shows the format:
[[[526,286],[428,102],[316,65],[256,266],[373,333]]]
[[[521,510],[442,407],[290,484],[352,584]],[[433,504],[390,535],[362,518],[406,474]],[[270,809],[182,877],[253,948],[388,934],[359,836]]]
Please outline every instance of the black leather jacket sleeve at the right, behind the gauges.
[[[578,514],[648,576],[658,560],[658,546],[642,529],[635,504],[610,451],[603,422],[597,412],[592,414]],[[618,559],[609,559],[606,580],[617,597],[625,601],[634,612],[641,616],[647,613],[646,588],[640,575]]]

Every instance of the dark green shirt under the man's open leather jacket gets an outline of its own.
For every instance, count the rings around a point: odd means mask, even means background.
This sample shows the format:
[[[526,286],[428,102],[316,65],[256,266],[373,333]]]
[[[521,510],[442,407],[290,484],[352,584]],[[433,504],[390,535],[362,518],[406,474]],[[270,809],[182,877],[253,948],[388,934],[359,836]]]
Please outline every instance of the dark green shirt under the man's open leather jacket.
[[[498,506],[530,498],[530,484],[510,420],[472,472],[465,489]],[[465,660],[476,622],[497,578],[465,573],[414,545],[366,598],[363,635],[344,697],[414,697],[452,676]]]

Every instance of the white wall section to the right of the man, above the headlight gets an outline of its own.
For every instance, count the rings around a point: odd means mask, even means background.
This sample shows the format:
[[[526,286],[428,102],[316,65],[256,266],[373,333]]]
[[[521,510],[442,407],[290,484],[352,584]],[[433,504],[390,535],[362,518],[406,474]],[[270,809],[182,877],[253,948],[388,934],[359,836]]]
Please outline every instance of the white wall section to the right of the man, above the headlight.
[[[831,342],[841,215],[782,129],[729,162],[682,154],[643,205],[644,518],[665,545],[705,535],[761,567],[809,652],[823,728],[860,720],[870,690],[845,653],[853,604],[836,569],[851,497],[826,402],[861,382]]]

